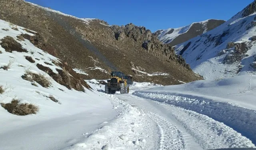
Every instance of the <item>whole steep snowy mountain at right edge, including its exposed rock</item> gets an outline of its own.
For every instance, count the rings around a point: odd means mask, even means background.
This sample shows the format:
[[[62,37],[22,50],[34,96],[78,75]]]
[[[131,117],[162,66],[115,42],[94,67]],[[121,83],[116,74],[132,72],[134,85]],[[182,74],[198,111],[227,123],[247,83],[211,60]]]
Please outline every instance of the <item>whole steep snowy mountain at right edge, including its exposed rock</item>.
[[[255,74],[256,1],[224,24],[175,46],[205,79]]]

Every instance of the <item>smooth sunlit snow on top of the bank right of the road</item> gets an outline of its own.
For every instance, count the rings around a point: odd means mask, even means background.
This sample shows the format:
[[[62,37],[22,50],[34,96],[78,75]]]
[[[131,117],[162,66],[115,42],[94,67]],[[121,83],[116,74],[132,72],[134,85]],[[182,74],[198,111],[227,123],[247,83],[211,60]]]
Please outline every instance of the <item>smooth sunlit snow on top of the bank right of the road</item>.
[[[256,110],[256,75],[235,76],[221,80],[200,80],[175,86],[160,86],[147,91],[229,102],[236,106]]]

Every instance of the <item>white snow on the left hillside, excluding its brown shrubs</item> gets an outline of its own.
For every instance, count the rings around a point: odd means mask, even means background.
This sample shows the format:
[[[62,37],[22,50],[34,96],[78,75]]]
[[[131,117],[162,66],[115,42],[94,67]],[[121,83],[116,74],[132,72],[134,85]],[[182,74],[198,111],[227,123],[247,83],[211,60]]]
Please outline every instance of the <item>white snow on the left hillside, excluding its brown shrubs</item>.
[[[11,24],[0,20],[0,39],[11,36],[16,40],[16,36],[20,34],[33,35],[22,30],[24,28],[17,27],[19,31],[12,30]],[[9,31],[4,31],[2,28],[7,28]],[[20,104],[35,104],[40,110],[36,114],[16,116],[0,106],[1,150],[61,149],[80,142],[83,133],[91,133],[99,128],[100,123],[109,122],[116,116],[112,104],[106,97],[88,89],[85,92],[74,89],[68,90],[36,66],[36,64],[42,64],[52,70],[62,69],[52,64],[52,60],[59,62],[58,58],[40,50],[28,40],[16,41],[28,50],[28,53],[16,51],[10,53],[0,47],[2,51],[0,67],[8,64],[10,59],[15,60],[10,69],[0,69],[0,85],[7,88],[6,92],[0,94],[0,102],[9,103],[15,98],[20,101]],[[33,54],[30,53],[31,50],[33,50]],[[31,56],[36,62],[30,63],[24,56]],[[31,85],[29,81],[23,80],[21,76],[26,70],[44,74],[49,78],[51,86],[44,88],[36,83],[38,85],[36,87]],[[54,96],[60,103],[47,98],[50,95]]]

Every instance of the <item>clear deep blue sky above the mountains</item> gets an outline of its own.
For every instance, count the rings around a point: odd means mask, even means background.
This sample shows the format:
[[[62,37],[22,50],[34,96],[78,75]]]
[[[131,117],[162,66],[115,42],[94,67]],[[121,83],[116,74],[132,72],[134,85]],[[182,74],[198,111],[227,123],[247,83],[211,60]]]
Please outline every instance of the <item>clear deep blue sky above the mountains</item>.
[[[228,20],[253,0],[26,0],[79,18],[110,25],[130,22],[152,30],[178,28],[207,19]]]

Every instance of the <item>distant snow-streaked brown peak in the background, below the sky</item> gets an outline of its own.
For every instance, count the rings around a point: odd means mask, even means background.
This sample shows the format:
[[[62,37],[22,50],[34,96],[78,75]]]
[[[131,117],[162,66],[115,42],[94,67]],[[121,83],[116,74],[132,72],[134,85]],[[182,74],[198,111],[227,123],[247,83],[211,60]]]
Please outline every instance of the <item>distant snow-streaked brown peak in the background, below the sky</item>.
[[[158,36],[161,42],[175,46],[210,31],[224,22],[224,20],[209,19],[202,22],[194,22],[180,28],[157,30],[154,34]]]

